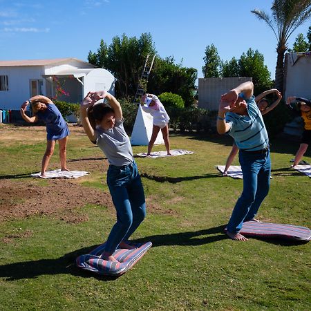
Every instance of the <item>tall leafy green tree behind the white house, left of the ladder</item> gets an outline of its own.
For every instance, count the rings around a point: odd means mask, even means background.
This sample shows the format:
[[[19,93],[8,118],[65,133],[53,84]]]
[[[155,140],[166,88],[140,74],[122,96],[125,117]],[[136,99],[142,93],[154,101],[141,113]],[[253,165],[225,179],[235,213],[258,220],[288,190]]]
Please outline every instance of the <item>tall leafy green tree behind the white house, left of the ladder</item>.
[[[101,40],[97,53],[88,53],[88,62],[111,71],[117,96],[129,98],[135,95],[148,54],[156,54],[150,33],[143,33],[140,38],[123,34],[113,37],[109,46]]]

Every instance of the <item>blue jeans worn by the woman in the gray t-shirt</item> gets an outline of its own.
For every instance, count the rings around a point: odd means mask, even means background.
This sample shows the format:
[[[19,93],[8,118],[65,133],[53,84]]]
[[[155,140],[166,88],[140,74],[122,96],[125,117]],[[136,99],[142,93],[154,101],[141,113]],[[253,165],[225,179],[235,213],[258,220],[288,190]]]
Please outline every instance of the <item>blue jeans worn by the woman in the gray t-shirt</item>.
[[[146,203],[142,180],[135,162],[115,167],[110,165],[107,185],[117,211],[117,222],[107,239],[105,250],[113,254],[122,241],[126,241],[146,216]]]

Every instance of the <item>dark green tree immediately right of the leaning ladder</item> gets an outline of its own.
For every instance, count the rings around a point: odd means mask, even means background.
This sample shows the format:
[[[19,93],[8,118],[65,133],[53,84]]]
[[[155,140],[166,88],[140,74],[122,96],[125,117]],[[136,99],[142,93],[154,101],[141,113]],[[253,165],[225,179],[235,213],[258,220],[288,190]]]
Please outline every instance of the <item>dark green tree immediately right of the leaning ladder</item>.
[[[196,68],[175,64],[173,57],[164,59],[156,57],[153,70],[149,76],[148,92],[153,94],[175,93],[182,97],[185,106],[191,106],[195,101],[196,77]]]

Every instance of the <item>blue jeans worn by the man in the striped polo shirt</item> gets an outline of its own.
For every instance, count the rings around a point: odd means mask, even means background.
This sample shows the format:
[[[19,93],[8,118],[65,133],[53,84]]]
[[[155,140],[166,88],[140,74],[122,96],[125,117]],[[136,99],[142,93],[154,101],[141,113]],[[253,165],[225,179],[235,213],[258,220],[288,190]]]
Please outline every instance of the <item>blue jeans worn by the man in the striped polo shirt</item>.
[[[269,150],[265,153],[250,153],[240,150],[238,158],[243,172],[243,192],[236,202],[227,225],[227,231],[232,233],[238,233],[244,221],[252,220],[255,217],[270,187]]]

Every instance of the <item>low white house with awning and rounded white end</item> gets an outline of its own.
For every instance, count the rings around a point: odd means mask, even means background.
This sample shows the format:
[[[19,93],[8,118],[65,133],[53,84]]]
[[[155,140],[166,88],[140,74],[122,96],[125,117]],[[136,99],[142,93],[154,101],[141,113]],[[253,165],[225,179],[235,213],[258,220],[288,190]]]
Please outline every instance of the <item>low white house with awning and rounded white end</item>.
[[[54,97],[59,86],[68,95],[57,100],[80,102],[89,91],[114,95],[115,79],[102,68],[75,58],[0,61],[0,109],[19,110],[34,95]]]

